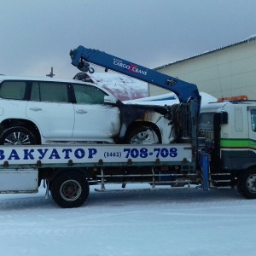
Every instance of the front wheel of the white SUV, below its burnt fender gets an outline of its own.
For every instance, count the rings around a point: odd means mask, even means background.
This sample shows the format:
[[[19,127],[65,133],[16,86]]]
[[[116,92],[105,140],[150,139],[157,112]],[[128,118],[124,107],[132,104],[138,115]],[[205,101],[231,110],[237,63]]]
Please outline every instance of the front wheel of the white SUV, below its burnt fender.
[[[132,130],[126,139],[129,144],[157,144],[160,139],[150,127],[138,126]]]

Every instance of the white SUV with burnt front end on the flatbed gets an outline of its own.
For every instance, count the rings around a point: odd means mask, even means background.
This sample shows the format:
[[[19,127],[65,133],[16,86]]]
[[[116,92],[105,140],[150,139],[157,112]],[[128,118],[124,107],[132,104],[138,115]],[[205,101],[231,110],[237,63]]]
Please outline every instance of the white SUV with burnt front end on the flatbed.
[[[0,76],[0,144],[170,143],[168,116],[95,84]]]

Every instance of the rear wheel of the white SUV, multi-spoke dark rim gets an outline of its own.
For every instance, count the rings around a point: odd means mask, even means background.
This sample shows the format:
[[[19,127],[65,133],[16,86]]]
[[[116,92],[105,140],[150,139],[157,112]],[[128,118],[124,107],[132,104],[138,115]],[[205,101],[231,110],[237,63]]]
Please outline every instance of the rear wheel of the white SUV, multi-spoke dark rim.
[[[9,127],[1,132],[1,145],[35,145],[36,137],[22,126]]]

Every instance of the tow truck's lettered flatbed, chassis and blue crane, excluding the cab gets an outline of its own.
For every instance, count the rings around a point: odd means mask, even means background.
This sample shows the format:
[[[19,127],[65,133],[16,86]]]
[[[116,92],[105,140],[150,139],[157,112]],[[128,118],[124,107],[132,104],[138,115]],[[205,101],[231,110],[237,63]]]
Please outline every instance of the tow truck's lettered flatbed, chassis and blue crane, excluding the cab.
[[[228,124],[228,114],[217,109],[214,115],[215,110],[212,110],[210,118],[214,127],[209,130],[208,126],[199,125],[201,96],[195,84],[83,46],[71,50],[70,56],[73,66],[82,72],[92,73],[90,63],[93,63],[106,71],[123,73],[174,92],[180,104],[166,108],[175,140],[170,144],[3,145],[0,148],[0,193],[37,193],[41,182],[45,181],[47,195],[50,192],[56,204],[66,208],[83,205],[90,185],[100,184],[98,190],[106,191],[108,183],[119,183],[122,189],[127,183],[149,183],[152,189],[158,185],[167,185],[170,189],[193,185],[203,190],[209,189],[209,185],[237,185],[241,195],[256,197],[256,173],[227,169],[221,159],[220,127]],[[202,137],[199,137],[199,128]],[[213,131],[215,128],[217,130]],[[211,173],[212,158],[215,168]],[[241,173],[249,174],[246,178]]]

